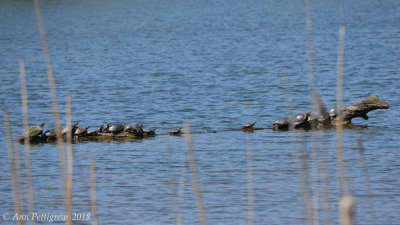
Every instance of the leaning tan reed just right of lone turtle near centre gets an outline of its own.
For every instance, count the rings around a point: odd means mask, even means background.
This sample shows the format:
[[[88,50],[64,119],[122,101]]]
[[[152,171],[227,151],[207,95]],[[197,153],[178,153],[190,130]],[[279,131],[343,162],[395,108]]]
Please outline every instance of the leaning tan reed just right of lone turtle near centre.
[[[199,179],[197,176],[196,159],[193,151],[192,136],[190,134],[189,122],[184,122],[183,127],[185,131],[184,134],[185,134],[186,144],[188,146],[189,164],[192,173],[193,190],[196,197],[197,210],[199,213],[201,224],[206,225],[207,218],[203,207],[203,200],[201,197]]]

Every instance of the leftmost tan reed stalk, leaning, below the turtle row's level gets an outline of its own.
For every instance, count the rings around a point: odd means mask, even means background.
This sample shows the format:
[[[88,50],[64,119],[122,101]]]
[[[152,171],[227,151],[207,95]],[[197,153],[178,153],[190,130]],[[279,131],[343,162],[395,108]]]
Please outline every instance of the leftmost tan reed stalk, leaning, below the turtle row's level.
[[[4,128],[7,137],[7,149],[8,149],[8,160],[10,166],[10,174],[11,174],[11,187],[13,192],[13,199],[14,199],[14,212],[18,214],[23,213],[23,203],[21,202],[19,194],[19,182],[17,181],[16,177],[16,170],[15,170],[15,160],[14,160],[14,150],[12,144],[12,136],[11,136],[11,127],[10,127],[10,118],[8,116],[8,109],[3,107],[3,119],[4,119]],[[25,224],[23,220],[17,220],[18,224]]]

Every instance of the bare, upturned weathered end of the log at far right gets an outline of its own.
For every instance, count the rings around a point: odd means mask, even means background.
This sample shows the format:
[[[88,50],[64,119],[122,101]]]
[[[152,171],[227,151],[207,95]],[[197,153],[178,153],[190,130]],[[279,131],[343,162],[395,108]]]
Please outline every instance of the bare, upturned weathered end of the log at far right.
[[[368,98],[353,103],[341,110],[339,110],[338,115],[332,118],[332,125],[337,124],[350,124],[351,120],[355,117],[361,117],[368,120],[367,113],[376,109],[388,109],[389,103],[382,101],[378,96],[372,95]]]

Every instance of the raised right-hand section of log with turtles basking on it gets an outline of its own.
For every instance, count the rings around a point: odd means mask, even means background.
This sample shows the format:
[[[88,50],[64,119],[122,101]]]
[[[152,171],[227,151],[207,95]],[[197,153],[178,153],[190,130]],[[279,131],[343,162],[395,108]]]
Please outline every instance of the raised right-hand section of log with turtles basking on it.
[[[317,98],[319,99],[319,98]],[[361,117],[368,120],[367,113],[376,109],[388,109],[389,103],[382,101],[378,96],[369,96],[366,99],[353,103],[345,108],[332,108],[329,112],[326,112],[322,102],[319,104],[318,115],[309,114],[304,121],[302,121],[301,126],[298,125],[299,115],[297,114],[293,118],[276,120],[273,123],[275,129],[309,129],[309,128],[324,128],[330,127],[332,125],[339,124],[351,124],[351,120],[355,117]]]

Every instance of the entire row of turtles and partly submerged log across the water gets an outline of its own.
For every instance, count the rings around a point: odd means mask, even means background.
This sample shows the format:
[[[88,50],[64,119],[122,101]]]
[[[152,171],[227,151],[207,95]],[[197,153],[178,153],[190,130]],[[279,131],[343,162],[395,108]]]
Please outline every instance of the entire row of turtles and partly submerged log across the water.
[[[303,112],[291,118],[275,120],[273,128],[275,130],[291,130],[291,129],[315,129],[330,127],[338,124],[351,124],[351,119],[354,117],[361,117],[368,119],[367,113],[375,109],[388,109],[389,104],[379,99],[378,96],[369,96],[368,98],[351,104],[345,108],[334,107],[325,111],[322,104],[319,108],[318,115],[311,114],[310,112]],[[240,129],[231,129],[226,131],[253,131],[269,128],[254,128],[256,122],[247,123]],[[89,130],[89,127],[78,127],[78,122],[63,129],[50,129],[43,132],[45,122],[40,126],[33,126],[27,128],[20,136],[19,141],[29,139],[29,141],[47,141],[57,139],[58,136],[71,137],[91,137],[91,136],[105,136],[105,137],[148,137],[156,135],[156,128],[143,128],[143,124],[133,123],[131,125],[124,124],[110,124],[103,123],[95,130]],[[216,133],[217,131],[198,132],[198,133]],[[169,132],[170,135],[181,135],[181,128],[173,129]]]

